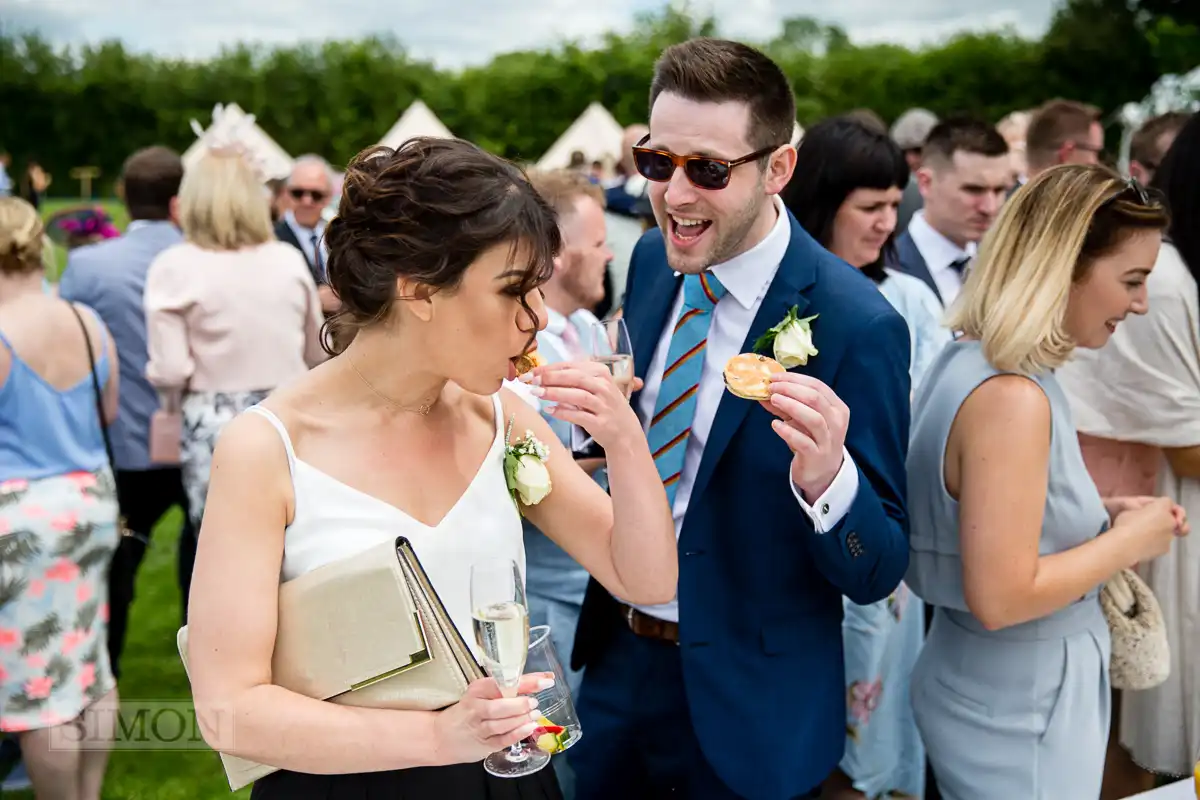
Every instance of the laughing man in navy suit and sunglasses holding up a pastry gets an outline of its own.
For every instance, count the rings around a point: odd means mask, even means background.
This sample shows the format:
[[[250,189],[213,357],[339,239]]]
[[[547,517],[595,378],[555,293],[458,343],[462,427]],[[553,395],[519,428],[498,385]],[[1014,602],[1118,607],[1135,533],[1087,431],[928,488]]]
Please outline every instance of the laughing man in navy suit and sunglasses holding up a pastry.
[[[632,608],[589,584],[578,800],[817,796],[846,735],[842,595],[878,601],[907,567],[907,327],[779,201],[794,119],[744,44],[692,40],[655,67],[637,160],[659,229],[624,318],[679,589]],[[726,361],[793,308],[817,315],[817,354],[769,401],[725,391]]]

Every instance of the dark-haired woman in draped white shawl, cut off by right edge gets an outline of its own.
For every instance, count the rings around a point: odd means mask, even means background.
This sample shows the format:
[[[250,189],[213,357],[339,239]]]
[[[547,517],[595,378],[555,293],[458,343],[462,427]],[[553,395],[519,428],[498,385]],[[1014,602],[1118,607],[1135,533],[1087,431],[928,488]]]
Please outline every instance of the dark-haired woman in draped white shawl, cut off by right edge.
[[[1079,429],[1117,447],[1159,450],[1154,492],[1195,517],[1200,515],[1200,115],[1180,131],[1154,186],[1166,197],[1171,224],[1146,282],[1150,311],[1121,325],[1103,350],[1064,365],[1061,380]],[[1114,474],[1114,467],[1121,470],[1120,459],[1097,470],[1103,463],[1088,464],[1098,482],[1139,477]],[[1200,758],[1200,543],[1181,539],[1165,555],[1141,564],[1139,572],[1163,608],[1171,664],[1160,686],[1122,693],[1121,744],[1144,769],[1189,775]]]

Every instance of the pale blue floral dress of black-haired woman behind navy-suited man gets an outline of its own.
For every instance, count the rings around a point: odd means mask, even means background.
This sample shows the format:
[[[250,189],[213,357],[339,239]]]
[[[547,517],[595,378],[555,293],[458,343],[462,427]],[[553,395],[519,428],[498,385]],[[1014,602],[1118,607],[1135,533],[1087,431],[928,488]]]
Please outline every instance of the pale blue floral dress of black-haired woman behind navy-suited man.
[[[908,324],[913,387],[949,342],[942,305],[919,278],[888,270],[880,291]],[[887,600],[842,600],[846,651],[846,754],[840,769],[868,798],[924,796],[925,748],[908,682],[925,637],[924,604],[901,583]]]

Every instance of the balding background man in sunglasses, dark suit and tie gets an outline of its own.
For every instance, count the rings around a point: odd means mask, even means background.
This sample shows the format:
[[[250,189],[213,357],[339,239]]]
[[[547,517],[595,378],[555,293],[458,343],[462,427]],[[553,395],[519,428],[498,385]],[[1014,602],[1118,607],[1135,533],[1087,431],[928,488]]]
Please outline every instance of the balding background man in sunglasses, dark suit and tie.
[[[325,219],[322,212],[332,200],[334,178],[329,163],[320,156],[300,156],[288,176],[286,193],[288,210],[275,224],[275,235],[301,253],[308,261],[313,281],[320,294],[320,307],[326,314],[337,311],[338,301],[329,287],[326,267],[329,248],[325,246]]]

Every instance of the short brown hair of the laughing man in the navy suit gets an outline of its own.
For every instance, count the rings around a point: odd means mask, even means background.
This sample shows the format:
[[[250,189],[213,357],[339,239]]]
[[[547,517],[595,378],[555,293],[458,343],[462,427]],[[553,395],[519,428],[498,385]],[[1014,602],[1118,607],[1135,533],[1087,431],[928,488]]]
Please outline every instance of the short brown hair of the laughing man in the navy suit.
[[[745,103],[750,107],[746,139],[755,150],[792,140],[796,96],[787,76],[767,55],[740,42],[702,37],[672,44],[654,65],[652,112],[662,92],[697,103]]]

